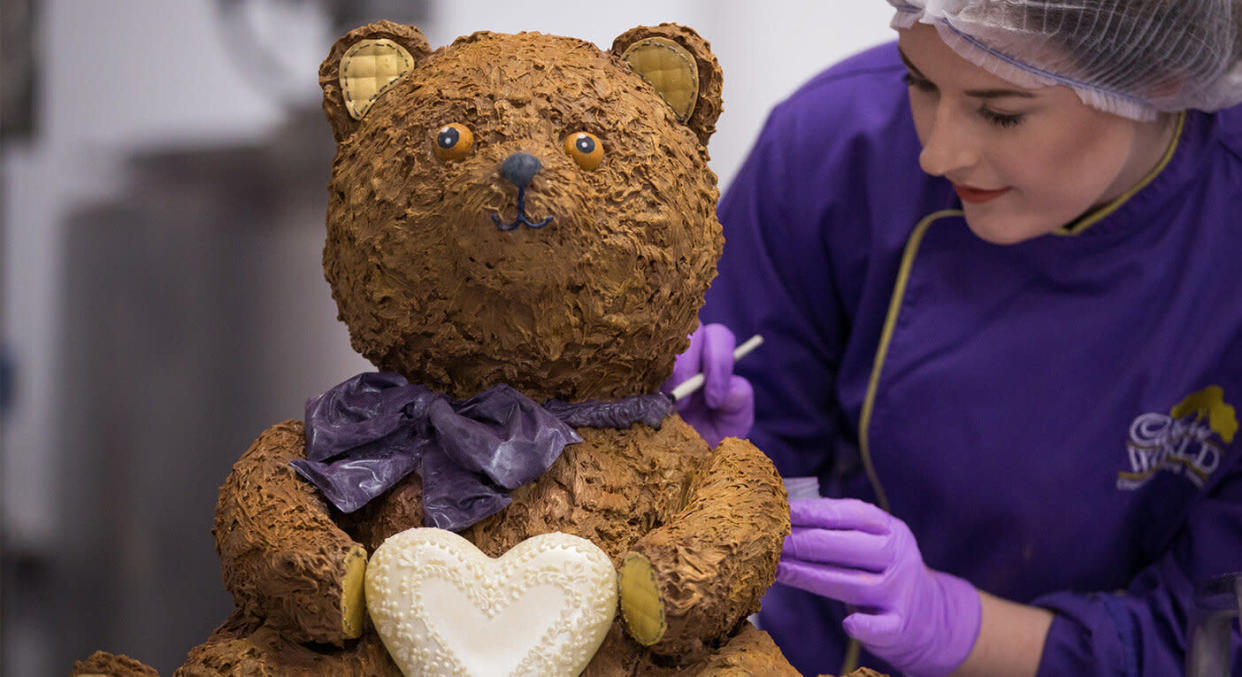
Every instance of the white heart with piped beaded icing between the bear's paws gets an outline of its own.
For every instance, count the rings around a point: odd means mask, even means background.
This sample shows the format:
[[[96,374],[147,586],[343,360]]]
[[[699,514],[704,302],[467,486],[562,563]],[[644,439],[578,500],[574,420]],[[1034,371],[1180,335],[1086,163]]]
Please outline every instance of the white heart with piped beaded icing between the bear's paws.
[[[407,676],[578,675],[616,606],[612,561],[564,533],[492,559],[452,532],[415,528],[366,565],[366,610]]]

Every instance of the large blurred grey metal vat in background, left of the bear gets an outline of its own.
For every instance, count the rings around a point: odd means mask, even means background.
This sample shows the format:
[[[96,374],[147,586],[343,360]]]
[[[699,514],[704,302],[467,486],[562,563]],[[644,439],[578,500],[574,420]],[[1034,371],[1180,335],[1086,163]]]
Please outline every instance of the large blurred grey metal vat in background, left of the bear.
[[[303,108],[262,142],[134,157],[127,190],[70,216],[66,520],[51,595],[15,600],[53,622],[66,670],[106,648],[168,675],[206,640],[232,610],[216,487],[260,432],[361,370],[343,364],[320,262],[333,152]]]

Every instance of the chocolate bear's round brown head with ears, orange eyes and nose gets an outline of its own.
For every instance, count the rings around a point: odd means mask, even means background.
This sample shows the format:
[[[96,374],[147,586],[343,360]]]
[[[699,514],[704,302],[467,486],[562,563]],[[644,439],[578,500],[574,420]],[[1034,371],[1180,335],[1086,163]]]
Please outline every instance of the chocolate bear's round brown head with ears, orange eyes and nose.
[[[693,31],[601,51],[378,22],[319,71],[339,143],[324,268],[354,348],[462,399],[653,393],[723,246],[707,139],[720,68]]]

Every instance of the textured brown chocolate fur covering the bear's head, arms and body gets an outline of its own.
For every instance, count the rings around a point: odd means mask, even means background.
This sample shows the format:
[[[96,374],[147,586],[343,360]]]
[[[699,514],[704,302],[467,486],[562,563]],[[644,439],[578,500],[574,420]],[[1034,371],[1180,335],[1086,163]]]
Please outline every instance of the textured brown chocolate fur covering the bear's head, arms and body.
[[[615,53],[669,37],[697,58],[696,111],[681,123]],[[405,46],[414,70],[361,120],[347,112],[339,60],[358,40]],[[468,398],[509,384],[537,401],[655,391],[686,349],[723,245],[707,138],[720,111],[720,70],[679,26],[641,27],[614,52],[568,37],[479,32],[430,51],[414,27],[351,31],[320,68],[339,142],[329,185],[324,268],[353,345],[380,369]],[[443,161],[436,132],[458,123],[474,150]],[[564,150],[568,134],[604,144],[594,171]],[[525,194],[543,229],[502,232],[517,189],[499,174],[513,153],[542,169]],[[513,503],[462,532],[496,557],[532,535],[592,540],[614,564],[655,569],[667,632],[652,647],[619,614],[587,675],[796,675],[748,614],[775,576],[789,532],[785,492],[749,442],[712,450],[673,415],[657,430],[579,429]],[[356,513],[329,507],[289,467],[302,424],[265,432],[220,489],[215,537],[237,611],[179,675],[396,675],[373,629],[342,626],[347,557],[422,524],[410,476]]]

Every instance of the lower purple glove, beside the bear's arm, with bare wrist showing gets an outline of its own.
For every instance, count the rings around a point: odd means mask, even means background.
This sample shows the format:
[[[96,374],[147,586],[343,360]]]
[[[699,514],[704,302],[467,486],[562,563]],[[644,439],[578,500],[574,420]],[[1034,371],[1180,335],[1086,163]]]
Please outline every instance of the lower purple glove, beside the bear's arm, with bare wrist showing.
[[[904,672],[948,675],[966,660],[979,593],[928,569],[904,522],[852,498],[791,501],[790,522],[777,581],[856,607],[846,634]]]

